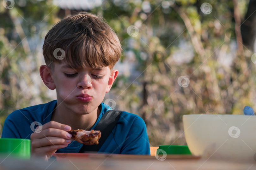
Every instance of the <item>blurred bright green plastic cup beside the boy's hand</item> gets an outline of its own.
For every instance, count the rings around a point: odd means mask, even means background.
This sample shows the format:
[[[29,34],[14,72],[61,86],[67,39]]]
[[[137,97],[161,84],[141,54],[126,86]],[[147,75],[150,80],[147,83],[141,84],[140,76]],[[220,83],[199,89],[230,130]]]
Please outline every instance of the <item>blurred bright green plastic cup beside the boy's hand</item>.
[[[0,139],[0,155],[17,159],[30,159],[30,140],[16,138]]]

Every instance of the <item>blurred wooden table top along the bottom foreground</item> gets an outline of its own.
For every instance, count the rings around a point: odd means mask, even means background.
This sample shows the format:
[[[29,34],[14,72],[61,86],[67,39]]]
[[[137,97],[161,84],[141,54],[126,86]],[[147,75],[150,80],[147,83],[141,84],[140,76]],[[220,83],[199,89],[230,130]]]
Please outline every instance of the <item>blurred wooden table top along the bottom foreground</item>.
[[[204,160],[195,156],[168,155],[163,161],[155,156],[105,155],[105,154],[63,154],[48,162],[38,159],[22,161],[0,158],[0,169],[42,169],[42,170],[253,170],[256,162]]]

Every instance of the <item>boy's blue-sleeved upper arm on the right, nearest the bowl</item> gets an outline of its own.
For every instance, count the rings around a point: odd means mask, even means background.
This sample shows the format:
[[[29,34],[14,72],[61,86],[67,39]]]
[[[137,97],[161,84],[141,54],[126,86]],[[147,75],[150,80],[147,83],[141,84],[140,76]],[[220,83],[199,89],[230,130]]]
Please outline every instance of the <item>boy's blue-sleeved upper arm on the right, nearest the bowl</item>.
[[[150,155],[146,125],[136,117],[120,150],[120,154]]]

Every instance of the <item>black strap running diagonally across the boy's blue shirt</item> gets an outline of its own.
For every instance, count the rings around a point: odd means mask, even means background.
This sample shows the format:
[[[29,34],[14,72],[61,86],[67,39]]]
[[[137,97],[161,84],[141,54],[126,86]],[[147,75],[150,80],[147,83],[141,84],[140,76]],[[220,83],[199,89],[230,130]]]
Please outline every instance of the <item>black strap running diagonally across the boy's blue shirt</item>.
[[[108,110],[102,116],[100,122],[97,124],[94,130],[101,131],[101,138],[99,139],[99,144],[94,145],[83,145],[82,148],[79,150],[79,153],[84,152],[93,152],[99,151],[101,146],[104,144],[105,140],[112,132],[113,128],[115,127],[119,117],[123,111],[120,110]]]

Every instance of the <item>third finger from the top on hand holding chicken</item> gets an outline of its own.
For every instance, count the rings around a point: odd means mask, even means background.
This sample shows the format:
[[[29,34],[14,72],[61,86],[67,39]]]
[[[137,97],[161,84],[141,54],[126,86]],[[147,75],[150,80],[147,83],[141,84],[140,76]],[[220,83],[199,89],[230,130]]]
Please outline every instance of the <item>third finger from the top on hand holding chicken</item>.
[[[63,139],[58,137],[45,137],[43,139],[36,139],[31,142],[31,146],[34,148],[40,148],[49,145],[59,145],[59,144],[70,144],[71,139]]]

